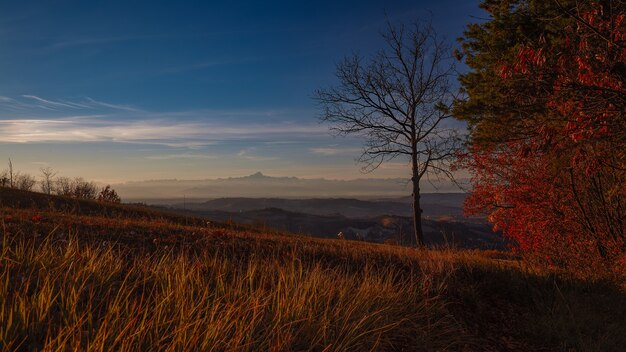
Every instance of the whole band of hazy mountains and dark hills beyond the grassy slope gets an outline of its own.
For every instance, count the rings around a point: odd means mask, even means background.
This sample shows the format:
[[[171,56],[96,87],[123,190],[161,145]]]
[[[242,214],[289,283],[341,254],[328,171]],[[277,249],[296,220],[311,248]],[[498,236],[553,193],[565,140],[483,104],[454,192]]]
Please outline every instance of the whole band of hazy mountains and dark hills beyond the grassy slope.
[[[317,237],[406,243],[412,229],[411,185],[402,178],[328,180],[272,177],[261,172],[207,180],[151,180],[114,188],[126,202],[152,205],[263,228]],[[427,192],[435,191],[431,186]],[[464,193],[448,185],[423,193],[424,232],[429,244],[502,248],[502,238],[484,219],[463,216]]]

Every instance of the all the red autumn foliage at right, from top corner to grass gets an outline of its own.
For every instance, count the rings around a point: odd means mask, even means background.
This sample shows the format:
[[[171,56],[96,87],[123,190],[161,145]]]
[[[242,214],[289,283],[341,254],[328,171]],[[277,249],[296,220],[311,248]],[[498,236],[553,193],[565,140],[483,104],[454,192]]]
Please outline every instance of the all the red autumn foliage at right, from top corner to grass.
[[[467,212],[488,212],[517,249],[587,274],[614,270],[626,253],[625,17],[592,2],[558,54],[522,47],[500,74],[548,82],[534,98],[548,118],[463,160],[474,173]]]

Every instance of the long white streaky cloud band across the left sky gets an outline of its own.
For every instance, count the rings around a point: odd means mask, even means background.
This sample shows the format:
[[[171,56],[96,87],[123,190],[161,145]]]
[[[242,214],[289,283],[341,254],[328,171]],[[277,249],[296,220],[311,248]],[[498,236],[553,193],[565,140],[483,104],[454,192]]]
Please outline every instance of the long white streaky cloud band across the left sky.
[[[127,143],[175,150],[152,159],[206,158],[198,151],[215,144],[235,142],[241,148],[326,138],[325,126],[296,122],[294,116],[301,114],[281,109],[149,112],[91,97],[0,96],[0,143]],[[253,150],[238,156],[273,160]]]

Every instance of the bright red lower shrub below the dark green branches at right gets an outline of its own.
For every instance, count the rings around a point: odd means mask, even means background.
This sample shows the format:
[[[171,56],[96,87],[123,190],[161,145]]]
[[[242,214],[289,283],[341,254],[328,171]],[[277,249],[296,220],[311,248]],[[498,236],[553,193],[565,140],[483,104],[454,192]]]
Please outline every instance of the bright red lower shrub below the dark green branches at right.
[[[589,175],[554,165],[567,161],[567,153],[541,155],[508,147],[471,154],[468,168],[475,186],[466,212],[487,211],[494,230],[539,263],[587,277],[613,275],[626,242],[619,199],[605,197],[607,190],[600,188],[611,180],[601,172]]]

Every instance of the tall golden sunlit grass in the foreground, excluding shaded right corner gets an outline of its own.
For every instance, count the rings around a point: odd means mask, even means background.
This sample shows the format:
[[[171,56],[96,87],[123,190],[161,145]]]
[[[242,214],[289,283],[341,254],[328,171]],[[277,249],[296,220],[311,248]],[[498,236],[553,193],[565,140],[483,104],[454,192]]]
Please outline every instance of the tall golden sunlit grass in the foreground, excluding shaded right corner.
[[[246,260],[203,249],[136,253],[52,238],[4,237],[5,349],[434,350],[467,343],[437,299],[444,283],[406,268],[326,265],[297,252]]]

